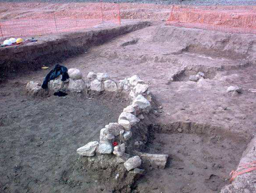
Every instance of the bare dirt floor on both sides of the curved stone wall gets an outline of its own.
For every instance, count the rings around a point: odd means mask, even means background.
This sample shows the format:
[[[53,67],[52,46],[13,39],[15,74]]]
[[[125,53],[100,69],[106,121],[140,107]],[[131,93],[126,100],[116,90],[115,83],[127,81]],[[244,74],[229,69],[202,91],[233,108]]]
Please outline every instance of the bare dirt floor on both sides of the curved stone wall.
[[[62,64],[81,69],[84,77],[90,71],[107,72],[114,80],[137,74],[150,84],[159,104],[155,122],[162,126],[152,127],[147,151],[167,153],[170,159],[164,170],[149,168],[134,193],[213,193],[228,183],[229,173],[256,131],[256,93],[248,91],[256,89],[255,46],[255,35],[158,23],[90,48]],[[199,71],[205,79],[188,80]],[[97,192],[101,188],[91,181],[94,174],[74,170],[76,165],[71,163],[78,157],[76,148],[98,139],[99,125],[115,121],[124,103],[109,102],[106,97],[25,96],[26,82],[41,81],[45,74],[31,71],[0,86],[0,152],[4,157],[0,186],[4,192]],[[243,92],[227,93],[231,85],[241,86]],[[186,131],[180,126],[173,129],[173,122],[208,126],[201,127],[201,132],[193,127]]]

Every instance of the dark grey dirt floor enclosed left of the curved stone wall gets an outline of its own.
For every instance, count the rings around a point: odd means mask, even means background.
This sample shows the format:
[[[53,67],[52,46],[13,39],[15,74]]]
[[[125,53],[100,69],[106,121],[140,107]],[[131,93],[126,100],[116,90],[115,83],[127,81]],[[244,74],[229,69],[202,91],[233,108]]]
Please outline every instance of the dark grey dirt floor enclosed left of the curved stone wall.
[[[122,100],[104,96],[32,99],[17,79],[0,88],[0,192],[101,192],[76,149],[116,122]]]

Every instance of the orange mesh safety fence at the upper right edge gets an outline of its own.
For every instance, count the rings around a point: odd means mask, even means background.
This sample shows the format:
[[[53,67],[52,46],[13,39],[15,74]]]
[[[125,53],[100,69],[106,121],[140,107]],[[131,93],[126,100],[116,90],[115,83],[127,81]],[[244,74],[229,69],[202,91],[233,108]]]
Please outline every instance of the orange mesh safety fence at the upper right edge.
[[[167,25],[256,34],[255,10],[214,10],[173,5]]]

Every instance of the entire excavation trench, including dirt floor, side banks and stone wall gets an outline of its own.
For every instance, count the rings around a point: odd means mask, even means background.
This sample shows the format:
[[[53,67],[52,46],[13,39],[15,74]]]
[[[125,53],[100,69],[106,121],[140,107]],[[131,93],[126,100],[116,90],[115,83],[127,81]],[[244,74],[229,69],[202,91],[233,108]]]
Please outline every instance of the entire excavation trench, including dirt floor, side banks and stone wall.
[[[199,45],[201,36],[208,34],[134,22],[1,48],[1,190],[252,193],[253,173],[231,185],[229,174],[253,162],[253,132],[241,126],[253,119],[241,111],[253,109],[253,95],[226,87],[241,80],[251,88],[255,37],[218,33]],[[49,70],[34,70],[56,63],[78,76],[41,89]],[[236,112],[222,104],[238,99],[249,104]]]

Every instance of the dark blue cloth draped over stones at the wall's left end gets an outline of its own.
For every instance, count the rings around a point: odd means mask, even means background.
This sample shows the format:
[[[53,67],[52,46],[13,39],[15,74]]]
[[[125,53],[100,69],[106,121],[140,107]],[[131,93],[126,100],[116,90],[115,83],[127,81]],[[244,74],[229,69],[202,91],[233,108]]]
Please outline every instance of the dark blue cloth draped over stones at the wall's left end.
[[[50,80],[53,80],[57,78],[59,75],[62,75],[61,81],[65,81],[66,79],[69,78],[68,76],[68,68],[65,66],[61,66],[59,64],[56,64],[55,67],[45,76],[42,84],[42,88],[46,89],[47,88],[47,83]]]

